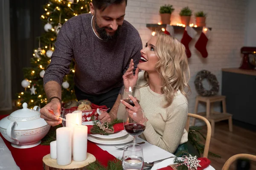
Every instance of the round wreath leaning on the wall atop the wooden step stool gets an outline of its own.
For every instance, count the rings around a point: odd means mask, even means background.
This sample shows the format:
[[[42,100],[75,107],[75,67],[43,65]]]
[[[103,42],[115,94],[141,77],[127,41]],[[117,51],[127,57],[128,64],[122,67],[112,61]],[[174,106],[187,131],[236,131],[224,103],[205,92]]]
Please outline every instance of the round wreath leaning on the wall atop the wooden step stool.
[[[202,84],[203,79],[207,79],[208,82],[212,85],[212,88],[210,90],[204,89]],[[194,83],[196,91],[201,96],[214,96],[219,91],[219,83],[216,76],[207,70],[199,71],[195,77]]]

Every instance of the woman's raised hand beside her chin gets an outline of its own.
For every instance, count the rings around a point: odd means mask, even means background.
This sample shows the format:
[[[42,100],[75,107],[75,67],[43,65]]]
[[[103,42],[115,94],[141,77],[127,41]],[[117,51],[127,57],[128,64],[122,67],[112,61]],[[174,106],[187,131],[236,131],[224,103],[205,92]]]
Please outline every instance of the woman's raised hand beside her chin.
[[[133,59],[131,59],[129,68],[123,75],[123,81],[124,81],[125,86],[135,86],[136,85],[140,69],[136,68],[135,75],[133,74],[133,69],[134,69],[134,62],[133,62]]]

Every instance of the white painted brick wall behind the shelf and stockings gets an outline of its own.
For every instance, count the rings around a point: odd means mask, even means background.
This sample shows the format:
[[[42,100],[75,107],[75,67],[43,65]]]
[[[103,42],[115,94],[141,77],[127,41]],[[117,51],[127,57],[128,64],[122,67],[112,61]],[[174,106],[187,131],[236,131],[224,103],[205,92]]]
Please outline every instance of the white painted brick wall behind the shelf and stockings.
[[[244,24],[247,0],[128,0],[125,20],[129,21],[140,33],[143,45],[150,39],[151,31],[146,28],[146,23],[160,22],[159,8],[164,4],[171,4],[175,11],[172,13],[171,24],[180,23],[179,11],[189,6],[193,13],[201,11],[207,13],[207,27],[211,27],[211,38],[207,44],[208,57],[203,58],[195,49],[201,31],[189,43],[192,57],[189,59],[191,78],[189,85],[192,94],[189,97],[189,112],[194,112],[195,75],[202,69],[207,69],[216,75],[221,88],[221,68],[239,67],[241,62],[240,48],[244,45]],[[195,24],[192,16],[190,23]],[[175,34],[181,40],[183,32]],[[204,86],[209,88],[207,81]],[[221,94],[221,89],[219,91]],[[219,104],[215,109],[220,110]],[[199,105],[198,111],[205,111],[204,105]]]

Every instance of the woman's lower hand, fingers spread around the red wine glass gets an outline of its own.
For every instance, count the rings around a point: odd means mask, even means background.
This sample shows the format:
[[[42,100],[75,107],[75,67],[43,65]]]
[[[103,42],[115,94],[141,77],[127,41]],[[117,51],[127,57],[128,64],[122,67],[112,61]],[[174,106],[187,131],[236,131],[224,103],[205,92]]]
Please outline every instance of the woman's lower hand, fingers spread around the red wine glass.
[[[129,115],[131,119],[133,119],[135,122],[143,124],[144,122],[147,122],[148,119],[145,117],[143,110],[140,106],[140,104],[137,102],[136,98],[133,96],[129,95],[129,98],[131,101],[134,103],[134,106],[130,105],[129,103],[125,102],[124,100],[121,100],[122,104],[126,106],[126,111],[129,109]],[[136,114],[136,116],[135,116]]]

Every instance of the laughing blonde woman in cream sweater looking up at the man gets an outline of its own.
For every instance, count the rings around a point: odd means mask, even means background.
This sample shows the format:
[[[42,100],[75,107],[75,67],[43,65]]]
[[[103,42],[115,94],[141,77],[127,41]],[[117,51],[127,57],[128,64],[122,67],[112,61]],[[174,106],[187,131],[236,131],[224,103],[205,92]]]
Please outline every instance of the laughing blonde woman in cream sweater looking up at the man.
[[[117,117],[124,119],[125,108],[141,108],[145,113],[146,128],[141,138],[174,153],[179,144],[188,141],[185,130],[188,101],[185,88],[189,67],[185,47],[175,38],[158,33],[141,51],[135,71],[130,67],[123,75],[124,85],[140,87],[140,104],[130,96],[135,106],[121,100]],[[139,69],[145,71],[140,72]],[[136,121],[136,120],[135,120]]]

